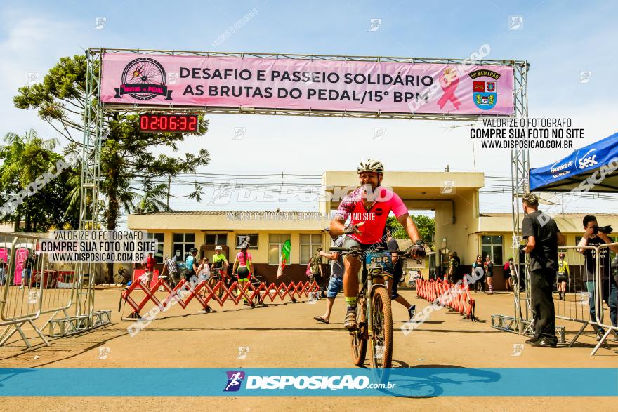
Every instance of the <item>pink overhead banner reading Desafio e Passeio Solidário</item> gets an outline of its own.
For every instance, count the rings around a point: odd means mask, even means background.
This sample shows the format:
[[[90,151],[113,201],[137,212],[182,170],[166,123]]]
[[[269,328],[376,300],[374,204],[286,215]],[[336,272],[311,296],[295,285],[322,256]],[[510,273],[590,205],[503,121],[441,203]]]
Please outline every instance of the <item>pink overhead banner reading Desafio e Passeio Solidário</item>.
[[[510,66],[103,55],[114,104],[426,114],[513,114]]]

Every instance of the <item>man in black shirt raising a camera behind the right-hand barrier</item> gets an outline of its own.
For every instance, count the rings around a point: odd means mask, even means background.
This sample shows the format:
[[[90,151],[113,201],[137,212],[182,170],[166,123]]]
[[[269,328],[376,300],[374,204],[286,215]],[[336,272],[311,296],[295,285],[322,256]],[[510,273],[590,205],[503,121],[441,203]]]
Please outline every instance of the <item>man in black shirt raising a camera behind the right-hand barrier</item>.
[[[584,235],[581,237],[577,246],[595,246],[598,247],[603,244],[612,243],[612,239],[605,234],[605,232],[611,233],[611,227],[599,227],[596,222],[596,218],[591,215],[584,216]],[[610,248],[599,249],[599,270],[601,277],[603,278],[603,300],[610,307],[610,320],[612,325],[617,326],[617,293],[616,293],[616,279],[612,275],[612,263],[610,261],[610,249],[614,252],[618,252],[617,246],[610,246]],[[595,278],[594,272],[596,268],[596,253],[592,249],[578,249],[580,253],[584,254],[586,261],[586,290],[589,296],[589,308],[590,308],[590,320],[596,322],[596,300],[595,300]],[[605,334],[603,328],[593,326],[595,331],[599,335],[597,340],[600,340],[600,336]]]

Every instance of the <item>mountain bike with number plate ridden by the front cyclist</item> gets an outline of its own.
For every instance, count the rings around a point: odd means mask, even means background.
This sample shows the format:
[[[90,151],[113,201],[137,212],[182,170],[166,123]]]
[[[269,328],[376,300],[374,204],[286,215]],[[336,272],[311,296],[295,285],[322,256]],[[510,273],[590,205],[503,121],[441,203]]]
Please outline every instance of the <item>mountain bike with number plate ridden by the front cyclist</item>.
[[[393,265],[390,253],[397,253],[400,258],[409,256],[409,253],[386,251],[384,248],[363,253],[357,246],[330,248],[330,251],[353,255],[362,260],[362,286],[356,303],[358,327],[350,331],[354,364],[364,364],[367,343],[371,340],[372,367],[390,368],[393,360],[393,314],[390,312],[390,295],[386,281],[392,280],[386,276],[385,269]],[[383,279],[385,284],[375,283],[374,279]]]

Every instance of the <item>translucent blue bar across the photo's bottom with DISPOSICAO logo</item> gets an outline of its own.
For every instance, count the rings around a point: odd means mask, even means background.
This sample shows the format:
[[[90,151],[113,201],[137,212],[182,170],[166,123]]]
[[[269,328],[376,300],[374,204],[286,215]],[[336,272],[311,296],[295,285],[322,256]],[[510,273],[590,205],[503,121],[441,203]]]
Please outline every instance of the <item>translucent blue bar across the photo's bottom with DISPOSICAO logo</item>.
[[[0,396],[618,396],[618,368],[0,368]]]

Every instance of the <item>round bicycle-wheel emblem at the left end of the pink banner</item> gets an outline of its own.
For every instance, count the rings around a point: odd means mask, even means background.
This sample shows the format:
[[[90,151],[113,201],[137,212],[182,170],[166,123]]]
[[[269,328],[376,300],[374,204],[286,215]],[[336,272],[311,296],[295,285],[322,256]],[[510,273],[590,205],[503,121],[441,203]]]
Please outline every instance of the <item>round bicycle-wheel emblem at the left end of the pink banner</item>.
[[[137,58],[124,67],[121,85],[114,88],[114,98],[121,99],[123,95],[130,95],[137,100],[150,100],[164,96],[164,100],[172,100],[172,91],[165,86],[165,81],[165,69],[157,60]]]

